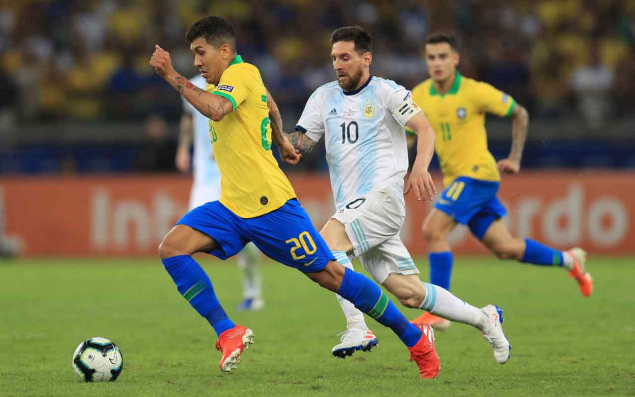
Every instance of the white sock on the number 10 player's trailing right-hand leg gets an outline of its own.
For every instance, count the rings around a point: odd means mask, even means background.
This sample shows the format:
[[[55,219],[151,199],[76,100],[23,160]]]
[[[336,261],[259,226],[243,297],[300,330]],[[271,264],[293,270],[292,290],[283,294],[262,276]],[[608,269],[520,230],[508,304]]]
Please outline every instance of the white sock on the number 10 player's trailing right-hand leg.
[[[429,311],[433,315],[446,318],[450,321],[472,325],[483,330],[485,327],[485,315],[481,309],[475,308],[469,303],[450,294],[450,291],[438,285],[423,283],[425,287],[425,299],[420,309]]]

